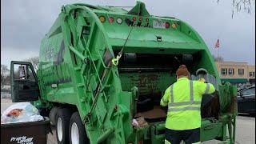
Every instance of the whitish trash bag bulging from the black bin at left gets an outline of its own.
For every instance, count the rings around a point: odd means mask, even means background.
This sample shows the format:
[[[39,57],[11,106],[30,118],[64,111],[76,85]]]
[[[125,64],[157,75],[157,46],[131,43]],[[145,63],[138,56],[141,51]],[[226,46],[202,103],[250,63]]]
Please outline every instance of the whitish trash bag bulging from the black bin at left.
[[[3,111],[1,124],[43,121],[44,118],[30,102],[18,102]]]

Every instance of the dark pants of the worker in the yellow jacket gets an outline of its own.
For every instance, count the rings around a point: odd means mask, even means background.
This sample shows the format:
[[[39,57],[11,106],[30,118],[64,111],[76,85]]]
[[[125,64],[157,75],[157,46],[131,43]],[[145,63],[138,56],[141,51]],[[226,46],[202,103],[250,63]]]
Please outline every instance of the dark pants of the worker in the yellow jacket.
[[[166,129],[166,140],[171,144],[180,144],[182,140],[186,144],[200,142],[200,128],[192,130]]]

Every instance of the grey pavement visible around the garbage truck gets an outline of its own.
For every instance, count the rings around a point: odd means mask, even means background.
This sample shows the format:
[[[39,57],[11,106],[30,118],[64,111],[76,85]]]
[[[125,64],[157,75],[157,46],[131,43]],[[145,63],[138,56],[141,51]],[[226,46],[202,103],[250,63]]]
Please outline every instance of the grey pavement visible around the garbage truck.
[[[8,106],[12,104],[9,98],[1,98],[1,114]],[[52,127],[53,134],[48,134],[47,144],[56,144],[56,130]],[[218,141],[212,140],[202,142],[203,144],[216,144]],[[236,126],[236,143],[238,144],[254,144],[255,143],[255,117],[248,115],[239,115],[237,117]]]

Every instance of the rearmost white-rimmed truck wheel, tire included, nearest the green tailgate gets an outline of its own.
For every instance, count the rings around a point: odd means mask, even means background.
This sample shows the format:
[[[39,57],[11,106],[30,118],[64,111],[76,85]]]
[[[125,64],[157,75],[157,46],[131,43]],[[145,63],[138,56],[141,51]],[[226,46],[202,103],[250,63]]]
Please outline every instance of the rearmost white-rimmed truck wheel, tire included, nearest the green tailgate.
[[[89,144],[89,138],[86,135],[85,126],[82,124],[78,112],[72,114],[70,118],[70,144]]]

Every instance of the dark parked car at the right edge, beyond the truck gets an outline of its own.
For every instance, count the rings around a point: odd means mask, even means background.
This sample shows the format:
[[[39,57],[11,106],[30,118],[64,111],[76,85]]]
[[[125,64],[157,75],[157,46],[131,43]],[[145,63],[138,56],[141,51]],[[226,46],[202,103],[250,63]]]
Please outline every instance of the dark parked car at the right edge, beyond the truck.
[[[238,113],[255,115],[255,86],[238,92]]]

